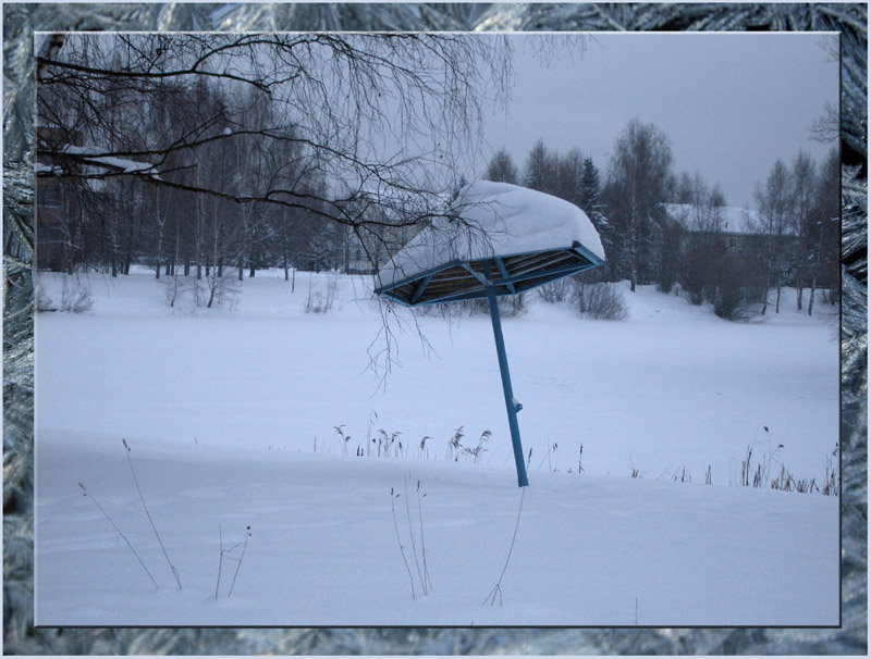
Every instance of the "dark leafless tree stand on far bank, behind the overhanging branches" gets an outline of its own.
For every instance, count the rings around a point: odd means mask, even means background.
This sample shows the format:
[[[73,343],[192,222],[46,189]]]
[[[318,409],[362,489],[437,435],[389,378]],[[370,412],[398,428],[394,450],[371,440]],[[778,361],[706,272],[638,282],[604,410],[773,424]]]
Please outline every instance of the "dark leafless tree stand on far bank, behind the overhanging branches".
[[[106,268],[114,276],[128,274],[131,265],[138,263],[154,268],[157,277],[223,276],[229,270],[242,278],[244,272],[253,276],[267,264],[317,264],[324,228],[315,220],[323,211],[320,200],[326,198],[326,184],[307,165],[296,141],[268,140],[258,133],[259,126],[272,123],[273,108],[266,96],[256,89],[241,90],[241,97],[229,102],[216,86],[203,80],[192,87],[163,85],[159,95],[159,102],[148,109],[136,130],[121,128],[130,125],[130,112],[136,111],[135,104],[124,102],[124,90],[106,94],[100,116],[119,126],[121,144],[112,147],[124,151],[144,151],[159,135],[197,136],[195,146],[164,154],[159,176],[170,185],[152,185],[123,172],[101,172],[87,162],[64,163],[82,177],[40,182],[40,192],[47,196],[63,185],[64,195],[79,208],[78,213],[59,217],[66,268]],[[293,126],[285,129],[292,136]],[[223,130],[228,134],[222,135]],[[216,135],[222,138],[210,139]],[[50,128],[40,128],[39,137],[44,144],[83,141],[81,136],[56,137]],[[59,142],[57,148],[63,147]],[[64,158],[50,161],[64,162]],[[140,162],[119,161],[119,166],[127,169]],[[195,189],[205,185],[224,195]],[[292,186],[300,198],[308,195],[308,200],[278,206],[231,198],[257,195],[256,190],[275,185]]]

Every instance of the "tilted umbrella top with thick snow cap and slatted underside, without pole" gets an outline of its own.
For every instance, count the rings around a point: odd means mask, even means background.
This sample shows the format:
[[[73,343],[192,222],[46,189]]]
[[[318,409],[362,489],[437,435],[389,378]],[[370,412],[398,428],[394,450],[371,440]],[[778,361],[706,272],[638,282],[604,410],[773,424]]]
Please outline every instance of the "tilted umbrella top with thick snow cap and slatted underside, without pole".
[[[381,269],[376,293],[408,306],[484,298],[488,283],[513,295],[604,260],[596,227],[575,204],[478,181]]]

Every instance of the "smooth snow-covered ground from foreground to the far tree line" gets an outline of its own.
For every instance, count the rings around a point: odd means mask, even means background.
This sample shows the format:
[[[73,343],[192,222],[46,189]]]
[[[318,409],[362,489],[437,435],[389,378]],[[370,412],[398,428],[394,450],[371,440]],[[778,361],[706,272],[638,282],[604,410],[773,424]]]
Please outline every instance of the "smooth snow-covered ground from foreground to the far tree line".
[[[489,318],[418,319],[432,351],[412,323],[379,387],[370,283],[314,275],[336,298],[306,314],[310,276],[292,294],[283,274],[258,273],[232,303],[195,310],[170,309],[149,274],[90,275],[89,311],[38,314],[37,624],[837,624],[838,500],[737,485],[748,447],[753,467],[771,450],[772,477],[783,465],[823,481],[838,428],[833,308],[809,319],[792,299],[728,323],[642,287],[625,291],[627,321],[606,322],[530,296],[503,320],[532,449],[520,490]],[[59,275],[39,284],[60,303]],[[445,460],[461,426],[477,462]],[[522,492],[502,606],[481,606]],[[242,562],[243,546],[221,562],[247,526]]]

